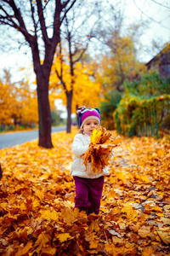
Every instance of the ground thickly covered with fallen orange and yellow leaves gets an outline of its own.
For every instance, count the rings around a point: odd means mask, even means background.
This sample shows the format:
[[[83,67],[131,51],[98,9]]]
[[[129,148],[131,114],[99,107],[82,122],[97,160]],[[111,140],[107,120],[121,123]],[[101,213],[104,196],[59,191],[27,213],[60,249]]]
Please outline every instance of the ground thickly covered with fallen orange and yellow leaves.
[[[170,255],[170,140],[124,138],[99,215],[74,209],[75,132],[0,150],[0,255]]]

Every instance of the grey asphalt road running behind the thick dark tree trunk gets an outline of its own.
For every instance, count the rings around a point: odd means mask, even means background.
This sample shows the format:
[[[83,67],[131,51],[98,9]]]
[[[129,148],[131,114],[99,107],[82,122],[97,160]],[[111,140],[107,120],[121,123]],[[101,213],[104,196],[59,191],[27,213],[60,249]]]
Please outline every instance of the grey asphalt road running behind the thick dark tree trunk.
[[[52,133],[66,131],[66,126],[52,127]],[[30,142],[38,138],[38,130],[3,133],[0,135],[0,149]]]

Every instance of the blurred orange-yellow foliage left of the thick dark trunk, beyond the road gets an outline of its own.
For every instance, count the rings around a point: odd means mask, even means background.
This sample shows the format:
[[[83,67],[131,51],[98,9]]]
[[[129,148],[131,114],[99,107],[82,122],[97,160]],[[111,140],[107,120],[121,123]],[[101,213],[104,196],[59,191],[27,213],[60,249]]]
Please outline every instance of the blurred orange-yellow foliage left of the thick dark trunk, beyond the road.
[[[0,125],[32,125],[38,122],[37,92],[32,91],[28,81],[12,83],[10,73],[0,80]]]

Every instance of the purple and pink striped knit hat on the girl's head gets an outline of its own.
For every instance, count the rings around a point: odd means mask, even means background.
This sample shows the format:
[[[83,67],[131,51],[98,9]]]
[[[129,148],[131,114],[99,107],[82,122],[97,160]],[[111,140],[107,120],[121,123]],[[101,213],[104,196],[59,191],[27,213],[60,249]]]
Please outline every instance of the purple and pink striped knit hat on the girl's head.
[[[88,119],[96,119],[100,124],[100,115],[99,115],[99,108],[86,108],[82,106],[81,108],[77,109],[77,113],[79,116],[79,125],[80,128],[84,125]]]

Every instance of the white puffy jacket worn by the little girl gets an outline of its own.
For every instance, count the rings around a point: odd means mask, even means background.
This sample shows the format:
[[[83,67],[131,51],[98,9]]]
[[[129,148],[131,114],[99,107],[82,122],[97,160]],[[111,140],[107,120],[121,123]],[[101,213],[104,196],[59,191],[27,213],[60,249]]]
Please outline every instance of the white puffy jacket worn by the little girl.
[[[72,151],[74,153],[74,159],[71,164],[71,175],[78,177],[89,177],[96,178],[103,175],[109,175],[110,173],[106,168],[103,169],[102,173],[94,173],[91,170],[91,164],[88,163],[87,166],[83,164],[83,159],[80,157],[81,154],[85,153],[88,149],[88,145],[90,143],[90,136],[88,134],[78,133],[74,137],[74,141],[72,143]]]

